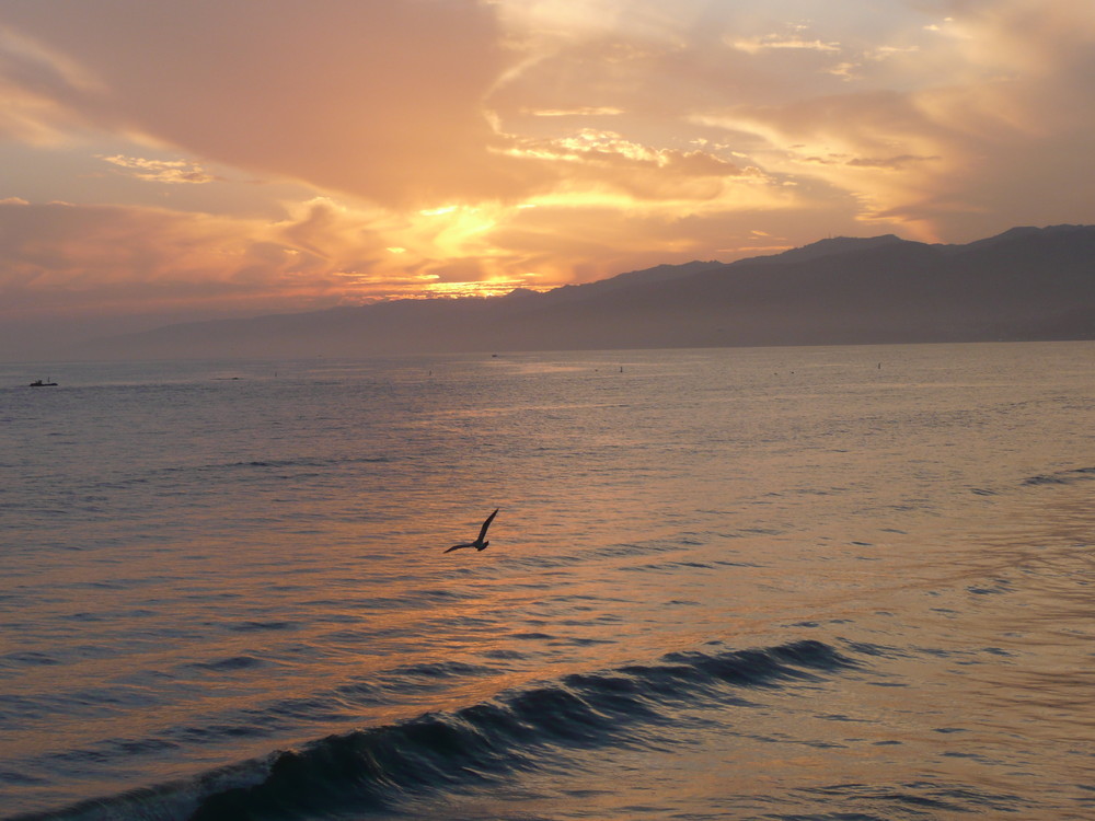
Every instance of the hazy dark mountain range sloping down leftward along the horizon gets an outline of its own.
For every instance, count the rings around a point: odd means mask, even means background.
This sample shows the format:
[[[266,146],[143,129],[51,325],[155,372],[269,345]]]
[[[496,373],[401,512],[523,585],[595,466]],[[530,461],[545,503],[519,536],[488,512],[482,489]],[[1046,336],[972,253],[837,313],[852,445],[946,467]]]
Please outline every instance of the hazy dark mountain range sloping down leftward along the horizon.
[[[401,352],[1095,338],[1095,226],[965,245],[894,235],[692,262],[546,292],[405,299],[111,338],[81,357]]]

